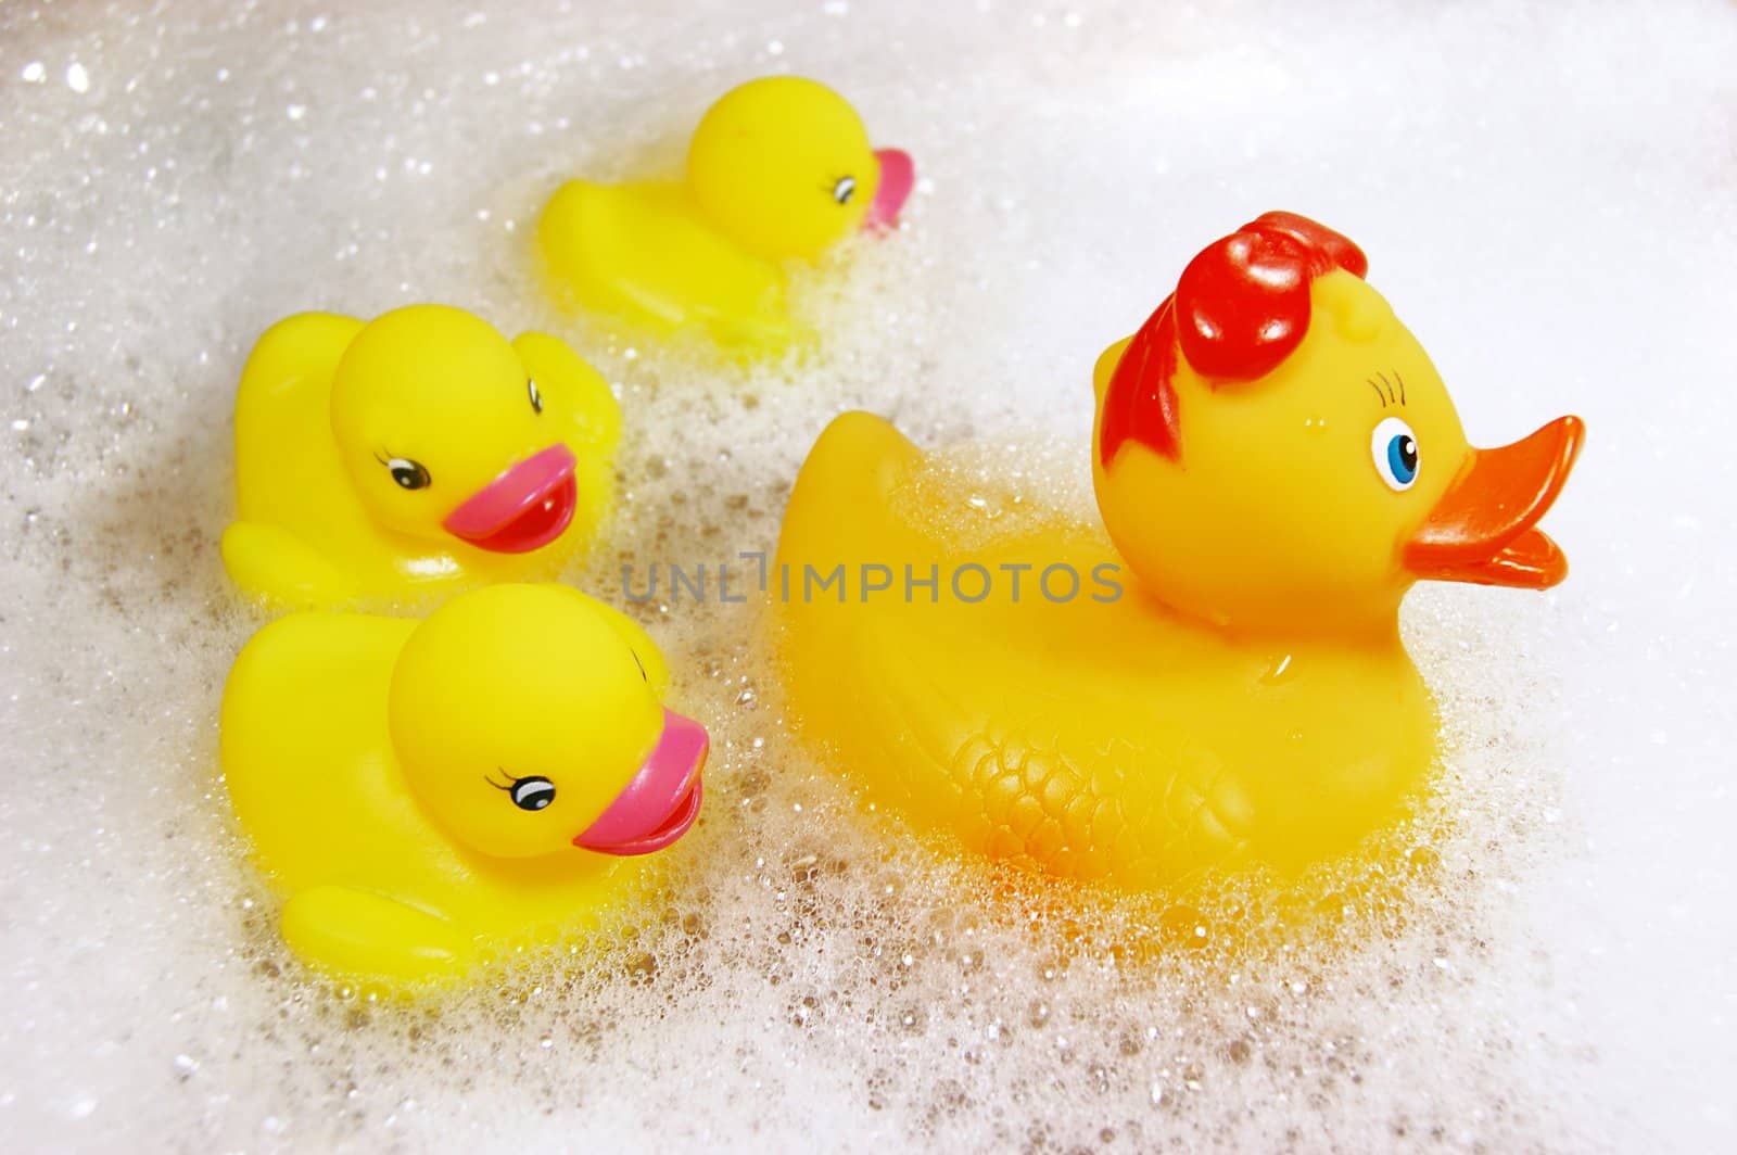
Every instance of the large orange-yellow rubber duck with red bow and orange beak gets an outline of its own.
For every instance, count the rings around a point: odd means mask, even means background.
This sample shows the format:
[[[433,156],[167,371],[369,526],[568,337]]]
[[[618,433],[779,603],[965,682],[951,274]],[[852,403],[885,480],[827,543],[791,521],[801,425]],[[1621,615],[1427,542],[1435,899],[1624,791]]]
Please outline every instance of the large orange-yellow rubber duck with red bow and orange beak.
[[[1395,813],[1436,752],[1400,599],[1560,582],[1534,526],[1582,424],[1468,445],[1365,269],[1292,214],[1188,266],[1096,368],[1108,537],[1007,514],[877,417],[822,434],[778,547],[780,665],[867,801],[1131,888],[1296,870]]]

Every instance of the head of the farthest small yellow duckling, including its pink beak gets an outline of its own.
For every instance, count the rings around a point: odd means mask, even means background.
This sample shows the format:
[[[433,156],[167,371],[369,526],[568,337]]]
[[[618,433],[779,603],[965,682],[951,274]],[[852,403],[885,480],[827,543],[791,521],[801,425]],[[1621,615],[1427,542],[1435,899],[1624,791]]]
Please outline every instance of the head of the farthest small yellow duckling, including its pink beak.
[[[888,226],[915,168],[874,151],[844,97],[799,76],[731,89],[688,146],[688,189],[710,224],[768,261],[811,259],[862,229]]]

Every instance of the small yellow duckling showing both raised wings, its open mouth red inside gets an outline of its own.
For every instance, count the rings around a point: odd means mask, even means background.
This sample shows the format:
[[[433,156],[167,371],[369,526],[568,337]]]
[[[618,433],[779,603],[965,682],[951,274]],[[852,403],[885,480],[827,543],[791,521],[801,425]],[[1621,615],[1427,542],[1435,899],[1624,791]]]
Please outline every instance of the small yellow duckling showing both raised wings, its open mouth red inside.
[[[545,333],[433,304],[292,316],[236,393],[224,566],[292,606],[552,577],[610,511],[620,427]]]

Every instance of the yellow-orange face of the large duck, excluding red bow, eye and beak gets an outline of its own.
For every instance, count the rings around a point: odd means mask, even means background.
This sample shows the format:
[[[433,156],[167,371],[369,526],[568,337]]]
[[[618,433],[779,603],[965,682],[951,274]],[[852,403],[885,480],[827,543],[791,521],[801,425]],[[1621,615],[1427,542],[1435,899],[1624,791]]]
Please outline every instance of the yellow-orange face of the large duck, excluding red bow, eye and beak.
[[[1237,630],[1390,634],[1414,580],[1397,544],[1471,446],[1440,373],[1381,294],[1334,271],[1310,295],[1308,337],[1258,384],[1212,389],[1178,366],[1181,467],[1134,446],[1106,471],[1094,453],[1098,511],[1129,568],[1176,610]],[[1120,344],[1100,358],[1100,403],[1119,354]],[[1403,379],[1403,406],[1383,405],[1376,373]],[[1381,481],[1369,453],[1374,426],[1395,415],[1423,453],[1405,492]]]

